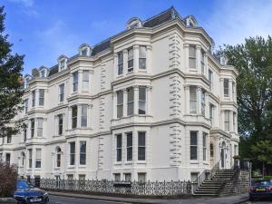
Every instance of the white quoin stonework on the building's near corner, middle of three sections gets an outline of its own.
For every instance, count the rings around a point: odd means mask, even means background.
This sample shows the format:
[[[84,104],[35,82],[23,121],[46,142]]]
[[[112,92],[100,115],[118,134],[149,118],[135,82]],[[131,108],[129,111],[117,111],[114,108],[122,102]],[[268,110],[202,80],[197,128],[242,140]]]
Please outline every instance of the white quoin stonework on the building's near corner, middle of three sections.
[[[170,117],[181,117],[181,82],[177,73],[170,76]]]

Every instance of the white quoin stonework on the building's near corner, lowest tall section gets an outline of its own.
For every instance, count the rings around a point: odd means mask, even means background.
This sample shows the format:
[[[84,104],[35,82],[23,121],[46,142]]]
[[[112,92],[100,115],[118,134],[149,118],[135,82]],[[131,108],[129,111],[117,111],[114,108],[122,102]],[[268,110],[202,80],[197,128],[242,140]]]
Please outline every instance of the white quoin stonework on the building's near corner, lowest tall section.
[[[170,126],[170,165],[179,166],[181,163],[181,127],[180,124]]]

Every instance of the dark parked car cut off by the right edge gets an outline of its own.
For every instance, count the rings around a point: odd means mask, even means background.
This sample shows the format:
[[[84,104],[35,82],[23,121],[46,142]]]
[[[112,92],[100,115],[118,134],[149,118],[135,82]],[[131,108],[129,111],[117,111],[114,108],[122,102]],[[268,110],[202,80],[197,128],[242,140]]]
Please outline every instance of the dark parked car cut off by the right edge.
[[[249,199],[272,198],[272,180],[256,180],[249,189]]]

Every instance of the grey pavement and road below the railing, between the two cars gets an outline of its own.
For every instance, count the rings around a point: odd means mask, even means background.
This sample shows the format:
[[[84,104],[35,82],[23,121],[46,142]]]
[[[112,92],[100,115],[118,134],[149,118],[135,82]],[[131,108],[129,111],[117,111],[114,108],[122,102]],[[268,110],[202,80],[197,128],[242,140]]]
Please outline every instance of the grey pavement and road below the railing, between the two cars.
[[[102,203],[142,203],[142,204],[238,204],[247,203],[248,193],[237,196],[219,198],[189,198],[189,199],[136,199],[111,196],[95,196],[65,192],[49,191],[52,204],[102,204]],[[271,203],[271,202],[269,202]]]

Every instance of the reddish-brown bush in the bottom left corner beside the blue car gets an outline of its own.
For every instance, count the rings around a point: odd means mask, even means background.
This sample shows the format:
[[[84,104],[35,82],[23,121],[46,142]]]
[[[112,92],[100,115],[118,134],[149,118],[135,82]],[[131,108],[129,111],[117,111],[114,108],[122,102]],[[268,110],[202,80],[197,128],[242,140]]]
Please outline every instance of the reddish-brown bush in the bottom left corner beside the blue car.
[[[17,168],[0,161],[0,197],[11,197],[15,191]]]

